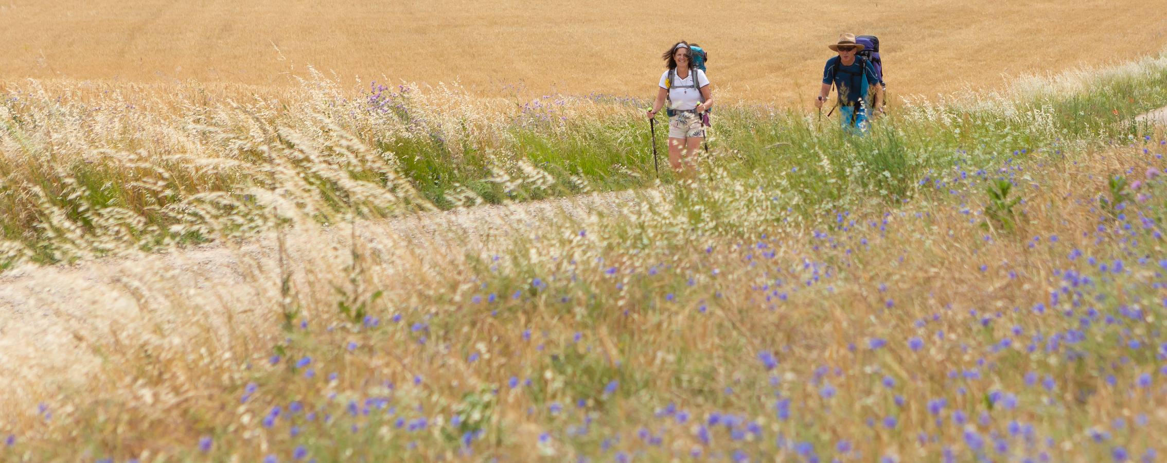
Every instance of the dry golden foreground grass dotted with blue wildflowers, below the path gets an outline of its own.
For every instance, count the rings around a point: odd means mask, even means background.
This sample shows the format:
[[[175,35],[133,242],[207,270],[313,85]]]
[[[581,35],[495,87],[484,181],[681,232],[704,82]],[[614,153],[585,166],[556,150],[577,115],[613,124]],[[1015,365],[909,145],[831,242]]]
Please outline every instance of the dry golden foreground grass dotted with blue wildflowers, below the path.
[[[1162,280],[1165,264],[1154,260],[1161,234],[1139,219],[1162,218],[1165,184],[1142,174],[1161,171],[1162,160],[1141,147],[1049,160],[966,171],[967,180],[924,187],[897,210],[850,210],[833,229],[834,215],[816,226],[757,222],[771,213],[760,204],[781,191],[713,173],[708,181],[721,188],[699,188],[708,192],[680,208],[649,201],[649,192],[607,217],[517,227],[518,246],[504,246],[497,261],[497,248],[411,248],[391,231],[364,229],[352,250],[305,230],[288,237],[295,268],[239,255],[246,285],[197,294],[175,285],[189,269],[127,265],[86,294],[118,301],[125,315],[103,314],[109,325],[99,327],[60,318],[60,329],[78,334],[75,362],[100,358],[100,373],[88,386],[29,379],[6,395],[5,405],[20,411],[2,423],[19,436],[9,456],[202,458],[203,436],[214,442],[210,457],[223,460],[287,458],[300,446],[322,460],[390,451],[427,461],[608,460],[617,451],[664,460],[691,449],[792,458],[795,442],[834,455],[839,441],[902,461],[937,460],[943,448],[962,461],[981,453],[1070,461],[1118,447],[1135,456],[1161,451],[1153,436],[1167,426],[1167,395],[1153,357],[1163,290],[1148,283]],[[1148,180],[1134,190],[1128,216],[1104,219],[1133,225],[1127,232],[1096,230],[1096,198],[1107,195],[1103,178],[1113,173]],[[980,189],[997,176],[1016,178],[1025,220],[1015,233],[985,239]],[[731,226],[753,233],[741,240],[686,231],[703,209],[729,212]],[[655,245],[641,247],[643,237],[629,233],[636,229]],[[439,232],[454,241],[459,233]],[[1096,258],[1125,260],[1126,271],[1099,271]],[[1089,280],[1079,287],[1068,271]],[[286,272],[306,322],[280,331]],[[366,299],[373,289],[385,296],[352,323],[335,309],[336,288],[347,293],[340,299]],[[1067,295],[1050,302],[1061,288]],[[1086,315],[1090,301],[1105,301],[1100,314]],[[1041,303],[1049,304],[1043,314]],[[1085,337],[1050,337],[1072,330]],[[910,349],[911,337],[924,348]],[[869,348],[873,339],[888,344]],[[280,356],[268,362],[273,351]],[[759,359],[763,351],[778,359],[774,371]],[[1117,363],[1127,356],[1134,362]],[[1027,384],[1028,372],[1053,383]],[[1137,385],[1142,374],[1151,386]],[[894,386],[881,385],[886,378]],[[79,395],[79,387],[91,392]],[[990,406],[991,394],[1014,395],[1018,405]],[[946,405],[934,426],[929,402],[938,399]],[[784,400],[789,418],[775,412]],[[670,404],[675,412],[662,412]],[[280,416],[271,418],[273,408]],[[741,421],[722,429],[713,416]],[[886,416],[895,426],[885,426]],[[398,418],[404,425],[394,425]],[[426,425],[414,428],[421,419]],[[868,419],[875,426],[865,426]],[[700,423],[711,423],[710,443]],[[732,437],[754,434],[747,423],[757,425],[757,436]],[[1022,437],[1013,426],[1029,430]],[[463,433],[473,435],[466,447]],[[917,433],[931,437],[917,443]],[[970,433],[986,448],[966,446]],[[1113,441],[1096,443],[1093,433]]]

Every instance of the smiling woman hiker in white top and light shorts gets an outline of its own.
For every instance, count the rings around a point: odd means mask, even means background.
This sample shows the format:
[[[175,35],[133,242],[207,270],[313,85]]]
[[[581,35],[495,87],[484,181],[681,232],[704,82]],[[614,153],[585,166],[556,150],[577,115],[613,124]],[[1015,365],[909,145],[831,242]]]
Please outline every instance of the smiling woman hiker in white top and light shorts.
[[[673,170],[689,170],[693,166],[692,155],[705,140],[701,113],[713,106],[710,79],[705,71],[694,68],[689,42],[678,42],[661,55],[668,68],[661,75],[649,119],[656,117],[661,106],[669,103],[669,164]]]

